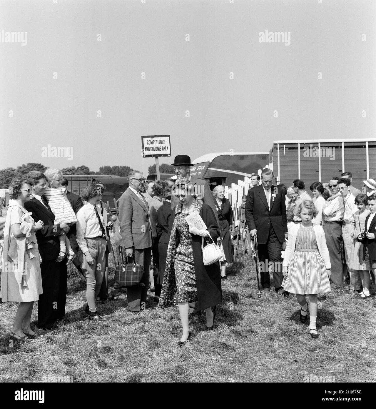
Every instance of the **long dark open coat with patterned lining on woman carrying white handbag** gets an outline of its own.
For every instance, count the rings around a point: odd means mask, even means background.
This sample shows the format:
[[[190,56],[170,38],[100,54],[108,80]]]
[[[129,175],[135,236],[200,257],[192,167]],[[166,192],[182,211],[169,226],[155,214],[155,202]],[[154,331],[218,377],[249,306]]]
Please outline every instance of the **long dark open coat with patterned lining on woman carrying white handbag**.
[[[204,220],[210,236],[216,242],[219,237],[219,227],[215,214],[210,206],[197,199],[194,210],[197,210]],[[177,243],[176,225],[174,224],[175,216],[181,213],[181,203],[178,203],[171,214],[169,220],[170,240],[168,242],[168,252],[166,259],[166,269],[163,278],[161,296],[159,298],[159,308],[171,307],[176,304],[174,301],[176,293],[175,281],[175,256]],[[175,227],[175,229],[173,229]],[[209,243],[209,238],[204,239]],[[201,236],[192,234],[193,262],[195,265],[195,276],[197,284],[197,310],[205,310],[216,306],[222,302],[221,274],[219,262],[211,265],[204,265],[202,261]]]

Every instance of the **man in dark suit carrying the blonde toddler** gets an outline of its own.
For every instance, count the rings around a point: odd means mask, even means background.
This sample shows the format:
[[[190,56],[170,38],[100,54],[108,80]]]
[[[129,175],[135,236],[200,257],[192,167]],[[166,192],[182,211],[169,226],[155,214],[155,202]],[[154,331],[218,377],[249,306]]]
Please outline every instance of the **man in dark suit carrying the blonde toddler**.
[[[58,236],[69,231],[65,223],[54,225],[55,216],[46,198],[43,196],[48,186],[42,172],[31,171],[27,178],[33,182],[33,198],[25,203],[25,209],[31,212],[34,220],[42,220],[44,227],[36,231],[39,254],[42,258],[40,270],[42,272],[43,294],[38,301],[38,328],[52,328],[55,321],[64,319],[65,300],[67,297],[67,266],[64,259],[57,263],[56,257],[60,252]]]

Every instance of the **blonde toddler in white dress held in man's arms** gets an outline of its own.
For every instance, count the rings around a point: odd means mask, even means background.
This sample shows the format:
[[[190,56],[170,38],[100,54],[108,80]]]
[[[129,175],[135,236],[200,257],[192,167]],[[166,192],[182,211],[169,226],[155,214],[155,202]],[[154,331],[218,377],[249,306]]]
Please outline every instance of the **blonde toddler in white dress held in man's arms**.
[[[45,191],[45,198],[51,208],[52,213],[55,215],[54,224],[65,223],[67,225],[77,222],[76,214],[72,209],[71,204],[67,198],[67,189],[61,186],[61,180],[63,179],[63,173],[58,169],[48,168],[45,171],[46,179],[49,183],[49,187]],[[67,265],[72,263],[76,254],[72,250],[69,243],[69,238],[64,234],[58,236],[60,240],[60,253],[56,258],[56,261],[60,263],[64,260],[68,254]]]

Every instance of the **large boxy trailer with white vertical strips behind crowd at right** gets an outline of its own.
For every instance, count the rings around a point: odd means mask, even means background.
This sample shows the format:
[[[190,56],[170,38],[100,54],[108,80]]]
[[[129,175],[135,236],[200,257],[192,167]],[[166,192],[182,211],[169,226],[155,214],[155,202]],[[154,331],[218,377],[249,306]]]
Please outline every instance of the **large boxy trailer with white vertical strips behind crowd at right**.
[[[376,139],[317,139],[274,141],[273,169],[278,183],[287,187],[301,179],[307,191],[313,182],[329,182],[351,172],[352,185],[362,190],[363,180],[376,178]]]

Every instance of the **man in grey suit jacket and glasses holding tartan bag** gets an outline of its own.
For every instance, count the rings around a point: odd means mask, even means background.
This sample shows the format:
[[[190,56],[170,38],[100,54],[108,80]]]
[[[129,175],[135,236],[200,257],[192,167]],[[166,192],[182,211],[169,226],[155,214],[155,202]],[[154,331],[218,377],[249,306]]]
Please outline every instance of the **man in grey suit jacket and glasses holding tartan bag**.
[[[119,225],[125,256],[132,257],[144,269],[142,283],[145,287],[128,287],[127,310],[138,312],[146,307],[149,268],[152,250],[152,233],[149,223],[149,206],[140,193],[145,178],[139,171],[128,175],[129,187],[119,199]]]

